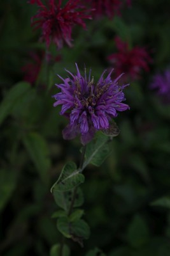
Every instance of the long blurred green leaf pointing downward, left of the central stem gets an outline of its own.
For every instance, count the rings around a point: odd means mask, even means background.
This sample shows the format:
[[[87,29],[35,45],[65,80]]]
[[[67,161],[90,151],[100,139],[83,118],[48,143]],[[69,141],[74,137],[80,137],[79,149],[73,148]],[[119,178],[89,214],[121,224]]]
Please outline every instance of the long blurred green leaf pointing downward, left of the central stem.
[[[35,164],[39,172],[41,180],[48,184],[50,169],[50,153],[45,139],[36,132],[29,132],[24,138],[24,145],[27,149],[32,162]]]

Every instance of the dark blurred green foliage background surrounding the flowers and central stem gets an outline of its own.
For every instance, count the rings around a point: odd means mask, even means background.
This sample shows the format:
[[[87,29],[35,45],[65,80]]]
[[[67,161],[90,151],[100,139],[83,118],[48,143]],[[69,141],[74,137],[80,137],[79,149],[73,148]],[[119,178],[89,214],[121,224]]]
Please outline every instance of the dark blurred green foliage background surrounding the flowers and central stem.
[[[131,109],[117,117],[120,135],[111,142],[110,157],[100,168],[85,170],[81,188],[90,239],[84,249],[67,244],[73,256],[96,246],[109,256],[170,255],[170,105],[150,90],[153,75],[169,67],[170,2],[132,1],[120,17],[90,20],[87,31],[75,27],[74,47],[64,45],[58,52],[52,45],[49,51],[57,61],[48,67],[41,60],[45,44],[31,28],[36,11],[21,0],[0,5],[0,254],[46,256],[59,243],[50,187],[66,161],[79,163],[80,141],[62,139],[67,121],[60,107],[53,108],[53,84],[59,83],[56,74],[67,76],[65,67],[74,72],[75,62],[80,70],[84,63],[92,67],[97,81],[110,68],[107,57],[116,51],[118,35],[145,46],[153,61],[141,79],[129,78],[125,95]],[[29,77],[39,67],[31,52],[40,56],[41,68],[29,85],[23,67],[29,63]]]

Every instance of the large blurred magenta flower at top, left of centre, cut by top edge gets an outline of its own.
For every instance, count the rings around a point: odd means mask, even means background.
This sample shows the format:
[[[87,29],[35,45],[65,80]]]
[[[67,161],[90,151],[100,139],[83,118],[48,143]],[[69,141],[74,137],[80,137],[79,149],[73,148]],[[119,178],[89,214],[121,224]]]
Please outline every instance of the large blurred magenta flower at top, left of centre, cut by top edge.
[[[32,17],[32,26],[35,29],[41,28],[41,40],[45,40],[46,46],[49,47],[53,42],[58,49],[62,48],[63,42],[66,42],[69,47],[71,44],[71,32],[75,24],[86,28],[84,19],[91,19],[87,15],[87,8],[81,4],[80,0],[69,0],[62,5],[62,0],[49,0],[45,6],[40,0],[31,0],[31,4],[39,6],[38,13]]]

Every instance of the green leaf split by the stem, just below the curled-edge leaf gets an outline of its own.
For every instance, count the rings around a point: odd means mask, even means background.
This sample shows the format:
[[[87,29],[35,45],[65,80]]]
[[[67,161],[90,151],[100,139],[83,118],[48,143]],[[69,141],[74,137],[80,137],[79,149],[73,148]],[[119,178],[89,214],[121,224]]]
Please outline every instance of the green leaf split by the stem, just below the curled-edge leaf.
[[[61,207],[65,211],[68,211],[71,205],[71,201],[73,198],[73,191],[74,189],[66,192],[60,192],[55,190],[53,191],[53,197],[56,204],[59,205],[59,207]],[[84,202],[83,192],[81,191],[80,188],[78,188],[76,191],[76,198],[74,200],[73,207],[80,207],[83,204],[83,202]]]

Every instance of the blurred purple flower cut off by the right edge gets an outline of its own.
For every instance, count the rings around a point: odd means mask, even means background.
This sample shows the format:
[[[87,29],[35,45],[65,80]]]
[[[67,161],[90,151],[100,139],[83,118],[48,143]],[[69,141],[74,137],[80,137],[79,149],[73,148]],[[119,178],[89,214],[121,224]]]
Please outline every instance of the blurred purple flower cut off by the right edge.
[[[157,90],[165,103],[170,103],[170,70],[155,75],[150,88]]]

